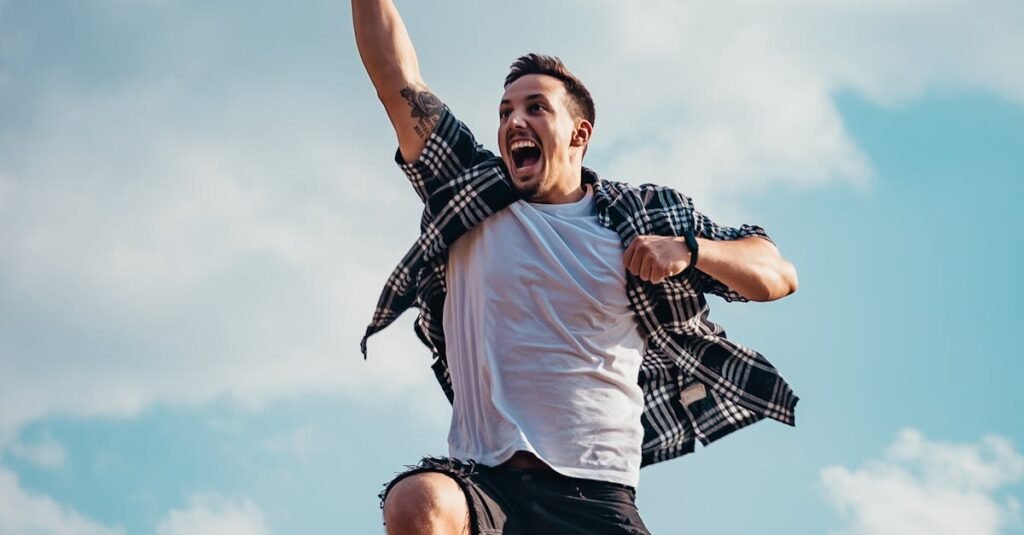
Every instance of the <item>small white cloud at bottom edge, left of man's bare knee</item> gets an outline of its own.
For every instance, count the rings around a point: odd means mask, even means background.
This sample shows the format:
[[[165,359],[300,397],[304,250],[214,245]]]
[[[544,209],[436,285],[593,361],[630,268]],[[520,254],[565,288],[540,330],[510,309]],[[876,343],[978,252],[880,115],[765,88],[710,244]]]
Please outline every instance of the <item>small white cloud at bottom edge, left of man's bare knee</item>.
[[[252,500],[217,495],[195,495],[185,509],[171,510],[157,535],[265,535],[263,512]]]

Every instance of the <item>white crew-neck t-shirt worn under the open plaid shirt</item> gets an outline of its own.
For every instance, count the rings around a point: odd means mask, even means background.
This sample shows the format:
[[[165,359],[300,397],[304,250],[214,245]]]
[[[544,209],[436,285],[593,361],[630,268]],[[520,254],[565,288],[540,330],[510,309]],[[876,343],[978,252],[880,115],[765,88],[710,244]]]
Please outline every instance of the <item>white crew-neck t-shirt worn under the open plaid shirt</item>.
[[[593,197],[516,202],[451,247],[453,457],[493,466],[523,450],[566,476],[637,485],[644,339]]]

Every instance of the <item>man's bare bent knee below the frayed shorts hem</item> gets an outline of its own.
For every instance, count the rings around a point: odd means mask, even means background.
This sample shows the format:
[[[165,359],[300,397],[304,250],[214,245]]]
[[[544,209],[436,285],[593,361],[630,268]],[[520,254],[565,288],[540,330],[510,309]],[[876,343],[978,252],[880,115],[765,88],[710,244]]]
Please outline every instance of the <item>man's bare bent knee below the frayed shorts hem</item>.
[[[388,533],[429,532],[430,529],[462,533],[469,522],[466,495],[444,474],[414,474],[395,483],[384,499],[384,523]]]

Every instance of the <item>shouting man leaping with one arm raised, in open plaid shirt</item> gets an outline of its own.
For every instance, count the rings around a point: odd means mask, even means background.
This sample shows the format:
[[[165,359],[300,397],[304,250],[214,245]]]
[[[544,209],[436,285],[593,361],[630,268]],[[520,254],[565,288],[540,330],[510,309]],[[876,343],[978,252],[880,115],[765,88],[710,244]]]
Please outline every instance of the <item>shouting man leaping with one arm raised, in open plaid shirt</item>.
[[[594,102],[554,57],[513,64],[495,156],[427,88],[391,1],[352,0],[352,13],[424,202],[367,337],[417,306],[453,402],[451,456],[382,493],[388,533],[648,533],[641,465],[763,417],[793,423],[796,396],[703,297],[796,290],[763,230],[583,167]]]

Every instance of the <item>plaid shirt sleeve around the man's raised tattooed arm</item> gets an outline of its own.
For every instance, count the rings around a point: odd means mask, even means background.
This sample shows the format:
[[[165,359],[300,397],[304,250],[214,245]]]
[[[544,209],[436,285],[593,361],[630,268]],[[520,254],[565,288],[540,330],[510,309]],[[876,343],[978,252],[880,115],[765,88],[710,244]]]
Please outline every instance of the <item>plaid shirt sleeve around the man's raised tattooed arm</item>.
[[[490,158],[494,158],[494,153],[476,142],[469,127],[456,118],[446,106],[419,158],[406,162],[400,151],[394,155],[395,163],[423,202],[466,169]]]

